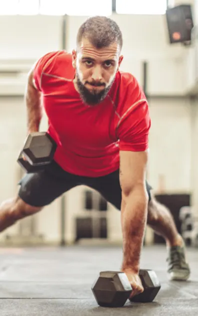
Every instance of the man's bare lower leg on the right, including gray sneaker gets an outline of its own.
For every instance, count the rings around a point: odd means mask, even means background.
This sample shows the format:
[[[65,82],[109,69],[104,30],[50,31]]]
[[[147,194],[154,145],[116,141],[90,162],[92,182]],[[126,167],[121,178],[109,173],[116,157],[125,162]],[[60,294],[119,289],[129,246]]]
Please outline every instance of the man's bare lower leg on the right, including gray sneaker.
[[[148,202],[147,225],[166,242],[168,275],[170,280],[187,280],[190,275],[185,259],[184,242],[178,233],[170,211],[151,195]]]

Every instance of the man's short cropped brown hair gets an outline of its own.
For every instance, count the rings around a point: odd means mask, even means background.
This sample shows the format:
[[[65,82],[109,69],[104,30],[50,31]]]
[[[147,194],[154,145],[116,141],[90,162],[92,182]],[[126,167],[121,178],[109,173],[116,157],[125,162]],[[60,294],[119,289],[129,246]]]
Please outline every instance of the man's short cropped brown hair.
[[[95,48],[107,47],[117,42],[122,48],[122,34],[117,23],[107,17],[95,16],[88,18],[77,32],[76,44],[80,45],[86,38]]]

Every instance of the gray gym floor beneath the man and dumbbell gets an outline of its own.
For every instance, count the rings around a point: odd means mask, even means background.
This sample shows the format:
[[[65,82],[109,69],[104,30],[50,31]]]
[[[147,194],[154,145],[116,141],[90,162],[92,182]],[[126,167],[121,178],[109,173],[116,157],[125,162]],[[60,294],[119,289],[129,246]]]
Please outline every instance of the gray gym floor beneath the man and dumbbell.
[[[1,316],[186,315],[198,312],[198,250],[187,248],[191,277],[168,281],[165,246],[144,247],[141,268],[153,269],[161,289],[151,303],[127,301],[120,308],[99,307],[90,290],[99,271],[119,270],[115,246],[0,248]]]

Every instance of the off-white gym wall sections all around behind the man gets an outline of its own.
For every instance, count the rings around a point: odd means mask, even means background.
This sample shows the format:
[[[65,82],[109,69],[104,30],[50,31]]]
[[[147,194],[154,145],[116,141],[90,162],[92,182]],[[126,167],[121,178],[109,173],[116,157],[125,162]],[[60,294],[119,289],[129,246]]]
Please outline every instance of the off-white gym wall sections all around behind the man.
[[[61,49],[61,17],[0,17],[0,59],[33,62],[42,54]],[[68,17],[66,49],[75,48],[77,28],[85,17]],[[123,63],[121,70],[132,72],[142,83],[142,61],[148,61],[148,91],[154,95],[184,94],[186,73],[183,67],[185,50],[180,45],[169,46],[163,16],[113,15],[123,33]],[[32,28],[33,26],[33,28]],[[25,78],[23,78],[25,79]],[[14,82],[15,79],[13,79]],[[0,78],[1,83],[5,81]],[[22,89],[25,80],[22,81]],[[17,83],[17,80],[15,80]],[[14,87],[15,84],[12,83]],[[197,130],[198,113],[193,114],[185,98],[153,98],[149,101],[152,126],[150,131],[150,158],[148,181],[155,192],[196,192],[195,158],[198,150],[192,141]],[[198,104],[197,104],[198,105]],[[44,117],[41,129],[46,128]],[[16,194],[19,167],[18,152],[26,134],[26,114],[22,98],[0,98],[0,201]],[[195,148],[195,149],[194,149]],[[192,150],[193,149],[193,150]],[[198,177],[197,177],[198,178]],[[161,184],[162,182],[162,184]],[[198,199],[195,197],[194,201]],[[82,188],[66,195],[66,238],[74,238],[73,217],[82,207]],[[120,239],[119,213],[110,207],[110,239]],[[112,217],[111,217],[112,216]],[[60,199],[35,216],[37,232],[46,240],[58,241],[60,235]],[[18,225],[6,233],[16,234]]]

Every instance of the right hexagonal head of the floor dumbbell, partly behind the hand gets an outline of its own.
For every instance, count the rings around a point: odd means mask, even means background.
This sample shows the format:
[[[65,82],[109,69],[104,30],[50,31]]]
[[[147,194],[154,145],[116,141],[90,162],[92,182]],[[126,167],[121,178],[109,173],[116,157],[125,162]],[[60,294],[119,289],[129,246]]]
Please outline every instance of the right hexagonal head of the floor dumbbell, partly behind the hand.
[[[140,269],[139,277],[144,290],[142,293],[129,298],[129,300],[141,303],[152,302],[161,287],[156,273],[153,270]]]

